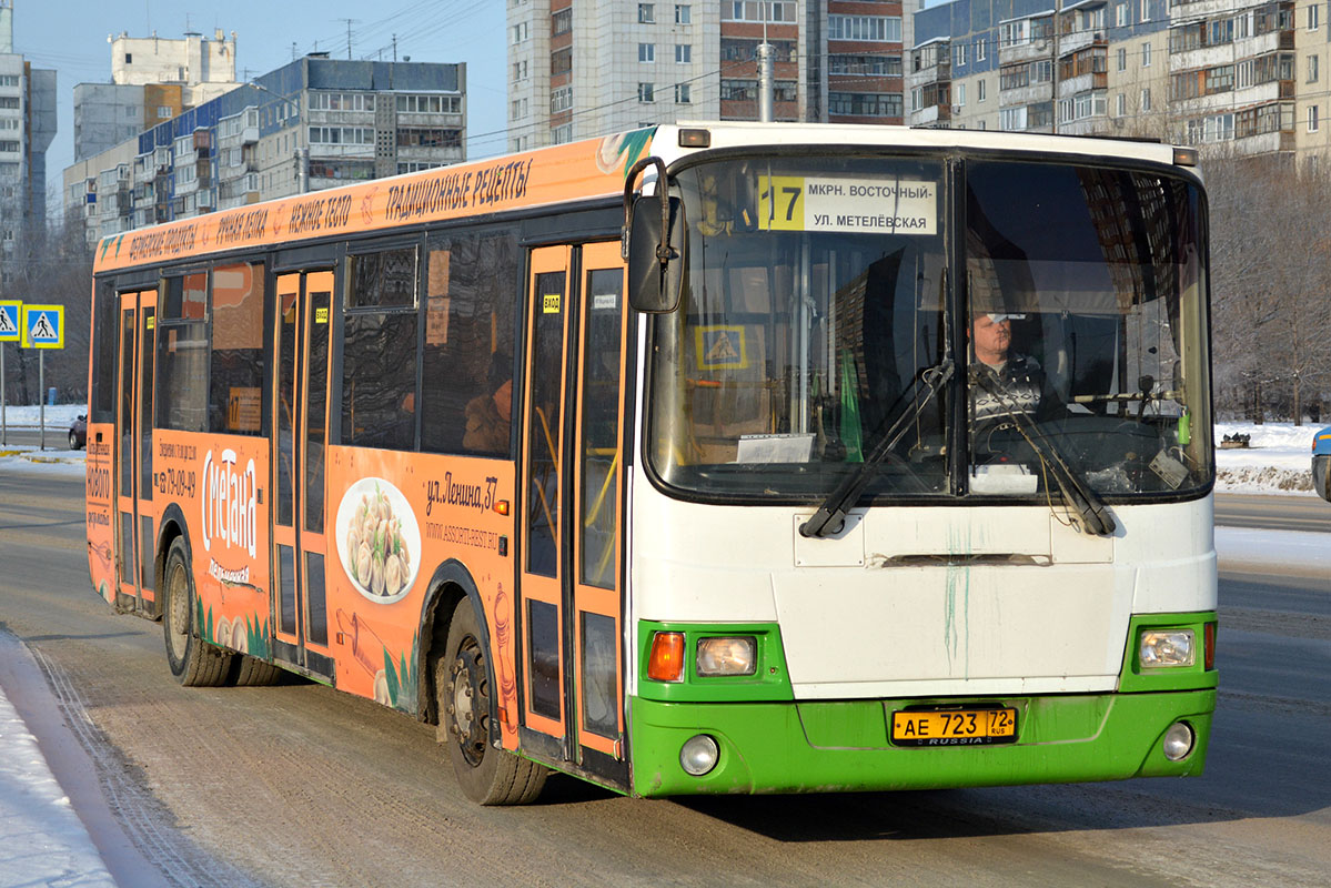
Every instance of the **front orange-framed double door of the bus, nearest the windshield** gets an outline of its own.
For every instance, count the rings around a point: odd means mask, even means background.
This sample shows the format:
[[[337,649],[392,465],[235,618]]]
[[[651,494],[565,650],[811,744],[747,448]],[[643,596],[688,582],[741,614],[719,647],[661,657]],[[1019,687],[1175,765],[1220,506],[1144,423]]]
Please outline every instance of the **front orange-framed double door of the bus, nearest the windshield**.
[[[619,244],[531,254],[522,434],[522,740],[627,785],[624,265]]]

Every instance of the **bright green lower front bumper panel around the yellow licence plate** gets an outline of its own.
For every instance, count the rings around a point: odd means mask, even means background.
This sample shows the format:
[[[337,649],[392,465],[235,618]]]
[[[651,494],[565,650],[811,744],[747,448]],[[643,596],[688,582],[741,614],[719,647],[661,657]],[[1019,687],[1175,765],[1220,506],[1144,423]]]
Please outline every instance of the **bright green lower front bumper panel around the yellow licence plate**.
[[[940,789],[1122,780],[1202,774],[1215,691],[1099,694],[974,700],[1014,707],[1018,742],[970,747],[894,747],[890,711],[930,700],[835,703],[631,704],[634,795]],[[1170,762],[1165,731],[1185,719],[1193,752]],[[680,746],[708,734],[716,768],[684,774]]]

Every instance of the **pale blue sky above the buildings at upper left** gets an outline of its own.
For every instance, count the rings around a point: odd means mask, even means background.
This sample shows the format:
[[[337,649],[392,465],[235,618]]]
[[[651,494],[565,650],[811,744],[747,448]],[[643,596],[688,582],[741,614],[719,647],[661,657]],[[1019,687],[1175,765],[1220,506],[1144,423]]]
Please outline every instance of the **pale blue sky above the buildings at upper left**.
[[[236,32],[236,76],[245,81],[307,52],[353,59],[467,64],[467,157],[506,148],[503,0],[13,0],[13,49],[35,68],[57,71],[56,140],[47,152],[47,190],[73,164],[73,89],[110,83],[108,35],[180,39]],[[350,24],[347,20],[350,19]]]

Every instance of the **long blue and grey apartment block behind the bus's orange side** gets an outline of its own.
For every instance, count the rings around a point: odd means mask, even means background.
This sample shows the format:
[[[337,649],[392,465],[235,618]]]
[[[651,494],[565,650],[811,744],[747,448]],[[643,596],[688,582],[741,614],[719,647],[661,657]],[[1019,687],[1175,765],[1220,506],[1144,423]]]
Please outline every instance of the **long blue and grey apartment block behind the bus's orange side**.
[[[89,242],[466,160],[466,65],[314,53],[65,170]]]

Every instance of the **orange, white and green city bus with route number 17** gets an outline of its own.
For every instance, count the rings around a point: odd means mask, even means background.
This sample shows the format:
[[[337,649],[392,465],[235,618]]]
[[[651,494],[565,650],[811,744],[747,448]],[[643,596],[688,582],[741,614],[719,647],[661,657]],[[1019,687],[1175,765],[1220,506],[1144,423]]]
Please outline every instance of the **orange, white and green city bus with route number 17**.
[[[660,125],[108,237],[92,584],[483,804],[1198,775],[1195,166]]]

